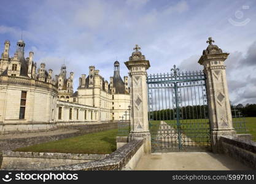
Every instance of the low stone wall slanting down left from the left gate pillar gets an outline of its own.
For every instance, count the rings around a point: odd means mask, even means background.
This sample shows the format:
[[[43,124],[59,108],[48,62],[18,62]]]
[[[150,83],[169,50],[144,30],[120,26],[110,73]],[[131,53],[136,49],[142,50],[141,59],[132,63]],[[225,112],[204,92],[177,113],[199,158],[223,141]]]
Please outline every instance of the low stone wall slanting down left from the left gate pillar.
[[[139,152],[138,152],[139,151]],[[68,166],[51,167],[48,171],[117,171],[122,170],[128,163],[129,166],[136,165],[139,156],[143,154],[143,139],[136,139],[128,142],[123,147],[118,148],[104,159],[91,161],[88,163],[71,164]]]

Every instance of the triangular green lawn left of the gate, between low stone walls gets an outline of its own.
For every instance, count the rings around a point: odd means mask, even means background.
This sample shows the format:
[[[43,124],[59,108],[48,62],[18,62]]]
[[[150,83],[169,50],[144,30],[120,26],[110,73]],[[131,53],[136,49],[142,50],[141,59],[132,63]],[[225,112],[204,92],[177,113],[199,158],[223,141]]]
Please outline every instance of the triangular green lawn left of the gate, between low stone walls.
[[[117,149],[115,142],[116,137],[117,129],[111,129],[108,131],[36,144],[25,148],[17,148],[14,151],[110,154]]]

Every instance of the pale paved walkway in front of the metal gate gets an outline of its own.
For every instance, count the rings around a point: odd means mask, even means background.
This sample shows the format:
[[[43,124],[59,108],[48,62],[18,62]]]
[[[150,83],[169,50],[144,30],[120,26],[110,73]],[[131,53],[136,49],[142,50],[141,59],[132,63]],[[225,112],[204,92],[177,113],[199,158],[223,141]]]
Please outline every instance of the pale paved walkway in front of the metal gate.
[[[252,170],[221,154],[173,152],[144,155],[134,170]]]

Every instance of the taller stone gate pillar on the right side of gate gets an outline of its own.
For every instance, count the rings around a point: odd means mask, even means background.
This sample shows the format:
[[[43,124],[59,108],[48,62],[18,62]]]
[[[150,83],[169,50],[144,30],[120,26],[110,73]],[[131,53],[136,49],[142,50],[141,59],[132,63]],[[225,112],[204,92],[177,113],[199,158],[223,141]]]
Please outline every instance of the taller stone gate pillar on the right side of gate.
[[[209,37],[207,41],[209,45],[203,51],[198,63],[204,66],[206,74],[212,151],[220,152],[220,136],[235,136],[236,131],[233,129],[226,66],[224,65],[229,53],[222,53],[222,50],[212,42],[214,40]]]

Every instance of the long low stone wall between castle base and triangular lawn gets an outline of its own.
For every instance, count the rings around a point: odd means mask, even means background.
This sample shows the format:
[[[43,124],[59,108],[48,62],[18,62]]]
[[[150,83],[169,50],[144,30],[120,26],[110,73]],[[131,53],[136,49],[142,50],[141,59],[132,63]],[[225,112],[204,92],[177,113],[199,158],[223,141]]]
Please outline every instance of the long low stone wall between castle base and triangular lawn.
[[[75,132],[68,134],[58,134],[53,136],[38,136],[38,137],[24,137],[24,138],[9,138],[0,139],[0,152],[7,150],[14,150],[15,148],[28,147],[29,145],[39,144],[43,142],[50,142],[54,140],[66,139],[69,137],[81,136],[83,134],[88,134],[92,132],[101,132],[108,129],[117,128],[116,122],[111,123],[98,123],[98,124],[88,124],[81,126],[69,126],[69,129],[77,129]]]

